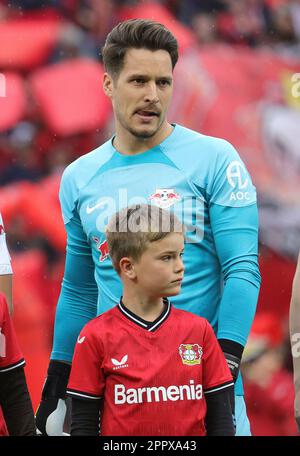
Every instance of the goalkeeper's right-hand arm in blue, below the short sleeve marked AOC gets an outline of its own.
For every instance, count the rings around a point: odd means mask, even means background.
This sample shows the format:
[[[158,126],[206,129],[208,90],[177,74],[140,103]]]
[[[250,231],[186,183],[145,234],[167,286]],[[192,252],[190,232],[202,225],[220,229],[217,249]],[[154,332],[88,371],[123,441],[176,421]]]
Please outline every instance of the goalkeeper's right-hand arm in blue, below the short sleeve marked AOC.
[[[223,277],[217,337],[236,380],[260,289],[256,204],[212,204],[211,225]]]

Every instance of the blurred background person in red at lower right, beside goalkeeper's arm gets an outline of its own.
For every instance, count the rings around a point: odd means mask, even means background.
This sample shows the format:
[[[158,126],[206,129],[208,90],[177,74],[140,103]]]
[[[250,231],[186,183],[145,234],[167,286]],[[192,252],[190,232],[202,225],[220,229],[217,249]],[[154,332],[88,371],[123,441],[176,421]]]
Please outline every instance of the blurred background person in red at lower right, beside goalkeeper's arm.
[[[297,434],[293,417],[293,378],[284,367],[283,339],[279,317],[263,311],[256,315],[241,365],[254,436]]]

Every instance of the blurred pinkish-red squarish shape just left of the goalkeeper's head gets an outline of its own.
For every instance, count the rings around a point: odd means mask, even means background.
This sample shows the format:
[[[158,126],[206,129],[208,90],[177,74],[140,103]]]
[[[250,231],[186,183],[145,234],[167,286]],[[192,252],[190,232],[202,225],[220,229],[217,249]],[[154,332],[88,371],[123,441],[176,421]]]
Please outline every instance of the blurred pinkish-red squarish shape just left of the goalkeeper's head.
[[[33,74],[32,91],[51,130],[67,136],[105,126],[111,108],[102,76],[102,65],[89,59],[69,60]]]

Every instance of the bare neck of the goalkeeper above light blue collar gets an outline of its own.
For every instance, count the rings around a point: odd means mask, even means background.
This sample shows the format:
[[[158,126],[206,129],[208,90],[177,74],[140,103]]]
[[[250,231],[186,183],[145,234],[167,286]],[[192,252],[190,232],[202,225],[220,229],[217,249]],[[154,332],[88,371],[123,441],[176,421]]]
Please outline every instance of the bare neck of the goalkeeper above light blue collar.
[[[116,136],[114,137],[113,145],[123,155],[135,155],[146,152],[164,141],[172,133],[173,128],[171,124],[166,123],[154,136],[150,138],[139,138],[129,131],[116,126]]]

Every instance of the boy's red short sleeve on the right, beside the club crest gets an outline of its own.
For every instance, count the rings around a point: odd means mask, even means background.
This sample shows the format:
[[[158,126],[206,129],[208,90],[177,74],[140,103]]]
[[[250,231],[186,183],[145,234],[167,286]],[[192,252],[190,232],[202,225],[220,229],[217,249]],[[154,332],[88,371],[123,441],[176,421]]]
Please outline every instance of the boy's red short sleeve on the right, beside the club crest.
[[[216,392],[233,385],[232,375],[211,325],[206,322],[203,341],[204,393]]]

